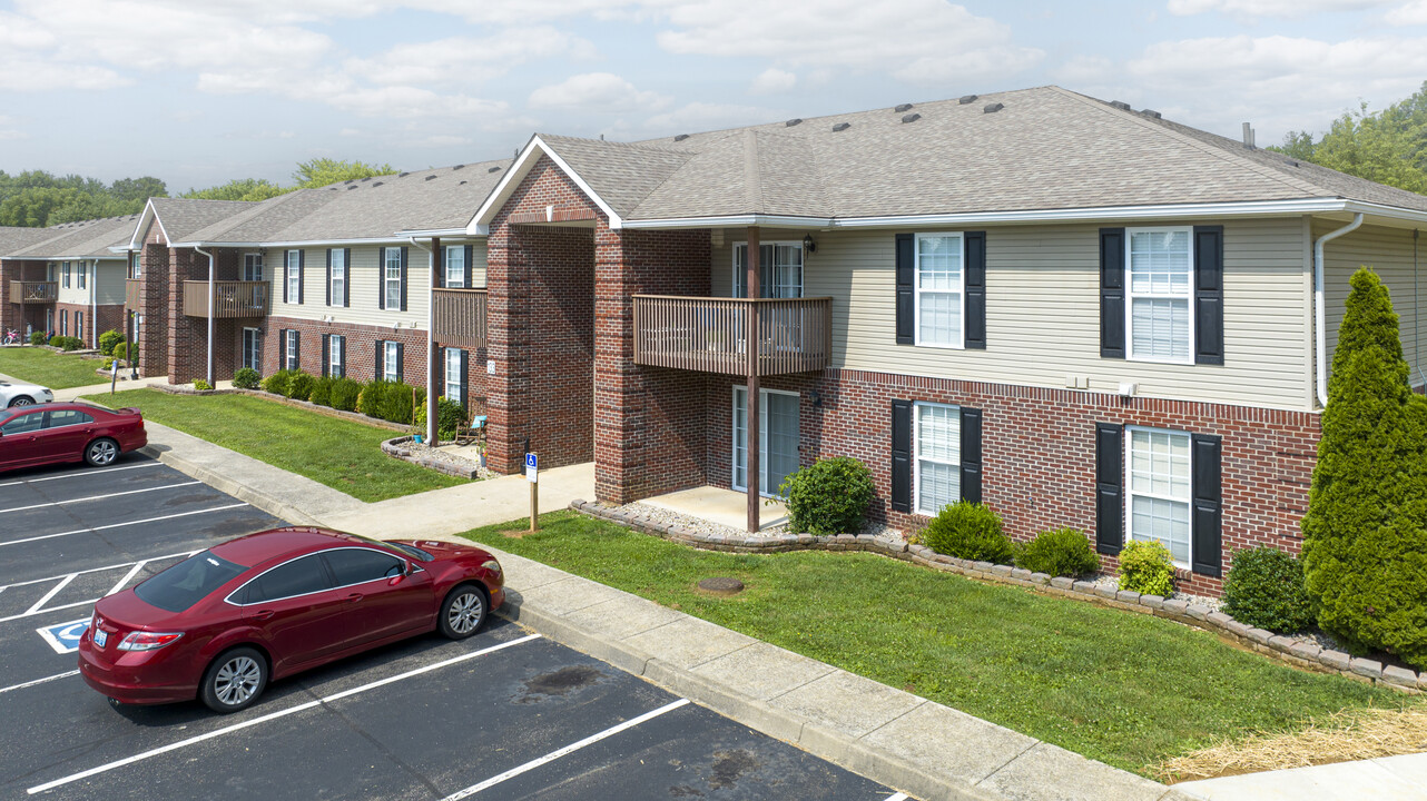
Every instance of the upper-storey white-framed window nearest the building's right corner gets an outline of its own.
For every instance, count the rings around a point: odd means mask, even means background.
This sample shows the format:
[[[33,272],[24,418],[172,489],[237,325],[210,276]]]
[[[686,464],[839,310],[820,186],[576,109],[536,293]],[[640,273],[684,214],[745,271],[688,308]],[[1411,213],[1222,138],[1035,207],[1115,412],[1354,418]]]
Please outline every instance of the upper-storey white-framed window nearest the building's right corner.
[[[1194,362],[1192,232],[1187,227],[1124,232],[1130,301],[1124,305],[1124,329],[1130,359]]]

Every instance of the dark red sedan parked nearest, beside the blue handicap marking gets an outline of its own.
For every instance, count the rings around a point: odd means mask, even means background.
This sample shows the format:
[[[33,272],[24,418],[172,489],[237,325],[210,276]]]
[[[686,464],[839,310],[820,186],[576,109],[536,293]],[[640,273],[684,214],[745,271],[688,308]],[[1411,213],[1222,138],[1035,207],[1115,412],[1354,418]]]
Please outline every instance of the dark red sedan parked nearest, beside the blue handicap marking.
[[[432,630],[469,637],[504,587],[475,546],[273,529],[101,599],[80,676],[124,704],[200,698],[234,713],[273,678]]]

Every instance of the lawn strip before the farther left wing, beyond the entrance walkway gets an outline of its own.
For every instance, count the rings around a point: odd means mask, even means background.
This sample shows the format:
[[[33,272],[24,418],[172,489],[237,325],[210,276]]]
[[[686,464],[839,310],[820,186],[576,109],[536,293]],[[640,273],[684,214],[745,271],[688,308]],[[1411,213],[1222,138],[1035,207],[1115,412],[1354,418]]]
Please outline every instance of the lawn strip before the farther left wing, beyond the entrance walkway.
[[[251,395],[168,395],[128,389],[96,395],[106,406],[137,406],[176,428],[365,502],[467,483],[381,452],[392,430]]]

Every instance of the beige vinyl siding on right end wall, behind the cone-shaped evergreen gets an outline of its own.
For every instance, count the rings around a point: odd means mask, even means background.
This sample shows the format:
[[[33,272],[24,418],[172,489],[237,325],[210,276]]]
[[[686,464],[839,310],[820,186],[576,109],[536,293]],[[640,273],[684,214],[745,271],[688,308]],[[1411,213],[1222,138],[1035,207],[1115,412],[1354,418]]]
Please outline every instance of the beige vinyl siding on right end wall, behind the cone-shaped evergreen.
[[[1313,237],[1321,237],[1341,228],[1343,222],[1314,221]],[[1413,232],[1403,228],[1386,228],[1380,225],[1363,225],[1351,234],[1346,234],[1323,245],[1323,302],[1327,316],[1327,352],[1329,369],[1331,373],[1333,351],[1337,348],[1339,325],[1343,324],[1343,306],[1351,289],[1349,279],[1359,267],[1370,267],[1381,277],[1383,284],[1393,299],[1393,311],[1397,312],[1398,329],[1403,336],[1403,355],[1411,365],[1411,383],[1420,386],[1427,382],[1423,371],[1427,371],[1427,321],[1417,319],[1414,289],[1417,302],[1427,299],[1427,265],[1414,267],[1414,261],[1427,257],[1427,248],[1413,241]]]

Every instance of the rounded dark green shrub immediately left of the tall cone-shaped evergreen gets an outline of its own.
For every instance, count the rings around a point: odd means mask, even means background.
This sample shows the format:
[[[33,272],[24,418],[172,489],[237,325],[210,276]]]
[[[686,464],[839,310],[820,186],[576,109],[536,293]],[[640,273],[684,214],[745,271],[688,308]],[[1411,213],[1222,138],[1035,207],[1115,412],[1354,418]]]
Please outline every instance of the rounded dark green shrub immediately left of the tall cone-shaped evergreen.
[[[1224,579],[1224,611],[1234,620],[1291,634],[1313,624],[1313,601],[1303,589],[1303,563],[1276,547],[1234,553]]]

